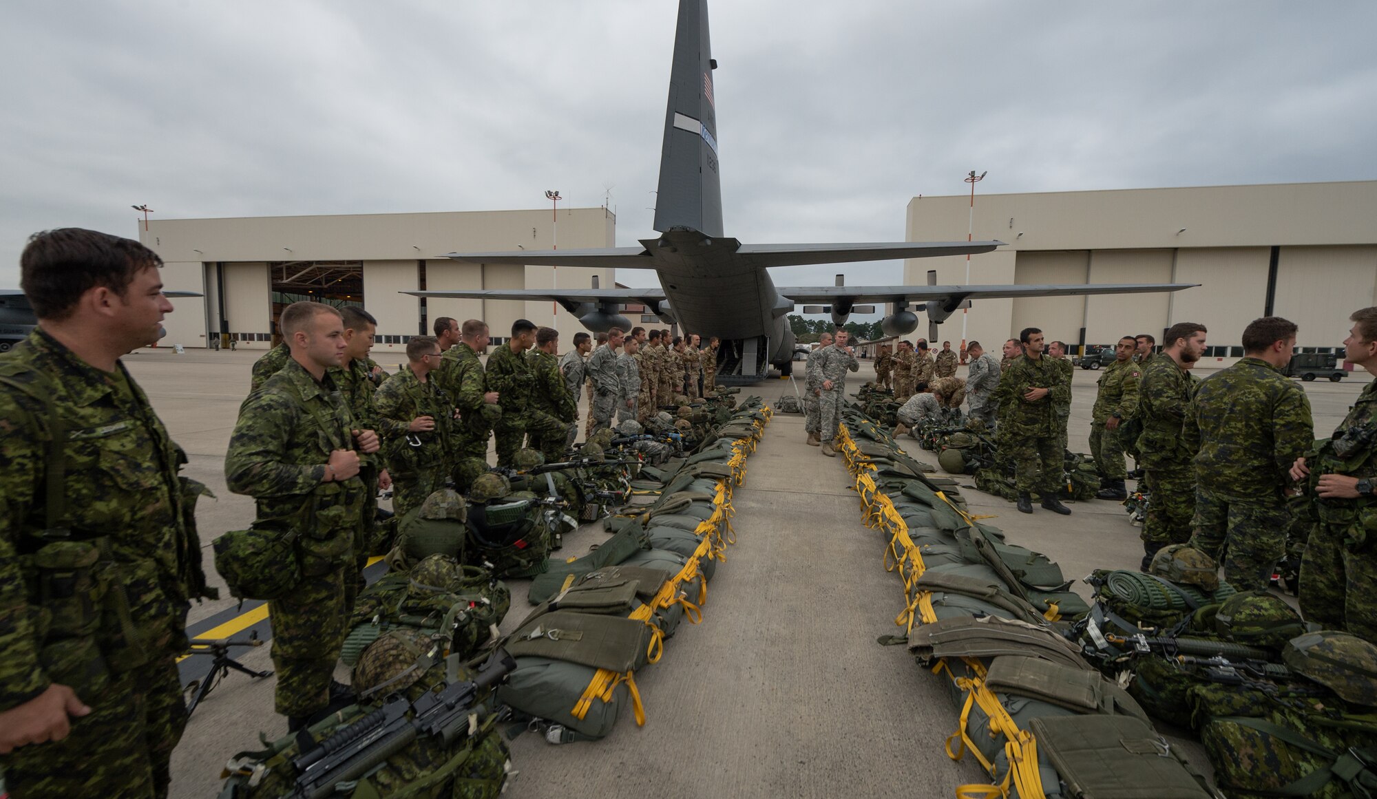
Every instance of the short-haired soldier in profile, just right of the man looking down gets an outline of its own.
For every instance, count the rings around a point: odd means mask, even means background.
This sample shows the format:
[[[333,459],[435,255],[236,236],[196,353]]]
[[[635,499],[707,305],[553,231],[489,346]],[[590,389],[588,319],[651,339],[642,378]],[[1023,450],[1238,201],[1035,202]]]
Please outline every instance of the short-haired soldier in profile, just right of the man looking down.
[[[487,350],[487,324],[468,320],[460,328],[459,346],[446,350],[441,368],[431,373],[435,386],[454,401],[459,424],[454,431],[454,488],[467,492],[474,479],[487,471],[487,438],[493,423],[503,415],[497,391],[489,391],[483,362],[478,354]]]

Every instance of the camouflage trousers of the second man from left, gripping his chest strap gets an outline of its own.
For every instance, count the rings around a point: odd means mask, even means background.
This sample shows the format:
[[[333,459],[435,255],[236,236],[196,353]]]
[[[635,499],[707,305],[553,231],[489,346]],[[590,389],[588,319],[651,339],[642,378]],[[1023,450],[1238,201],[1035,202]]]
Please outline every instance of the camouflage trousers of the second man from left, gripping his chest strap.
[[[353,577],[353,568],[303,577],[286,596],[267,603],[278,714],[306,716],[329,704],[330,675],[348,623],[344,609],[354,605]]]

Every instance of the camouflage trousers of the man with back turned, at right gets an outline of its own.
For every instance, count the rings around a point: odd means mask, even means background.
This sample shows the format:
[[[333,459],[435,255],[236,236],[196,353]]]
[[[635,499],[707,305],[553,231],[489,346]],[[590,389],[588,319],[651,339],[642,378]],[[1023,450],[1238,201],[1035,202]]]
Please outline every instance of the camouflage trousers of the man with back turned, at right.
[[[1215,558],[1230,584],[1263,591],[1276,561],[1286,555],[1290,512],[1279,496],[1238,500],[1197,486],[1191,526],[1190,544]]]

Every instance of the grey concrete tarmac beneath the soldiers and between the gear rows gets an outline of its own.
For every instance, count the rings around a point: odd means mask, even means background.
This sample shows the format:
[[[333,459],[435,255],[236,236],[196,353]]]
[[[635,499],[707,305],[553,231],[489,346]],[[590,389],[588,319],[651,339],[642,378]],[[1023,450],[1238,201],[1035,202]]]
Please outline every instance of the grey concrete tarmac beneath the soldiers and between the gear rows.
[[[224,488],[223,460],[249,366],[262,353],[140,350],[125,358],[175,441],[186,448],[186,474],[218,499],[197,508],[211,570],[211,540],[253,518],[248,497]],[[384,365],[392,368],[392,365]],[[848,388],[873,376],[869,362]],[[1208,372],[1202,372],[1202,376]],[[1085,450],[1096,372],[1077,369],[1071,449]],[[1304,383],[1319,435],[1327,435],[1358,397],[1367,375],[1343,383]],[[774,404],[793,393],[786,380],[744,390]],[[906,449],[934,463],[905,438]],[[607,738],[552,747],[534,734],[512,743],[521,774],[514,798],[640,796],[950,796],[956,785],[982,782],[980,767],[950,760],[945,740],[958,708],[942,682],[902,646],[876,638],[895,632],[902,585],[881,563],[884,541],[861,523],[859,506],[840,457],[804,444],[803,417],[777,413],[746,463],[735,492],[738,543],[727,550],[709,585],[701,625],[683,624],[661,663],[636,675],[647,722],[627,714]],[[969,481],[963,481],[968,484]],[[1011,503],[963,488],[972,512],[1009,540],[1059,561],[1069,579],[1096,568],[1133,568],[1142,554],[1137,528],[1118,503],[1075,503],[1073,515],[1013,511]],[[566,537],[563,557],[606,539],[600,525]],[[212,580],[219,583],[218,577]],[[529,612],[526,581],[509,583],[512,610],[504,630]],[[223,583],[222,583],[223,587]],[[1075,584],[1088,595],[1082,583]],[[193,606],[205,625],[233,610],[233,599]],[[238,654],[270,670],[267,647]],[[343,676],[343,675],[341,675]],[[273,714],[273,679],[231,674],[197,708],[174,754],[172,796],[218,792],[224,762],[259,748],[259,731],[285,733]],[[1194,743],[1192,760],[1208,766]]]

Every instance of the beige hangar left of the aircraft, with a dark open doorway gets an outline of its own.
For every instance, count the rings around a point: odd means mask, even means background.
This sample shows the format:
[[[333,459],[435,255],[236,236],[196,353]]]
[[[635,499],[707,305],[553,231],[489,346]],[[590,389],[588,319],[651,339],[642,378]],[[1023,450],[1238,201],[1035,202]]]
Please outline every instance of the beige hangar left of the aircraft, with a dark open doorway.
[[[487,321],[494,343],[527,318],[565,338],[585,328],[548,302],[416,298],[416,289],[607,288],[610,269],[461,263],[446,252],[613,247],[616,215],[606,208],[438,214],[362,214],[238,219],[153,219],[139,238],[165,266],[168,289],[204,298],[174,299],[164,346],[205,347],[212,338],[270,349],[288,304],[315,299],[361,303],[377,318],[375,353],[402,354],[431,320]],[[632,317],[639,318],[639,317]],[[402,355],[405,360],[405,355]]]

